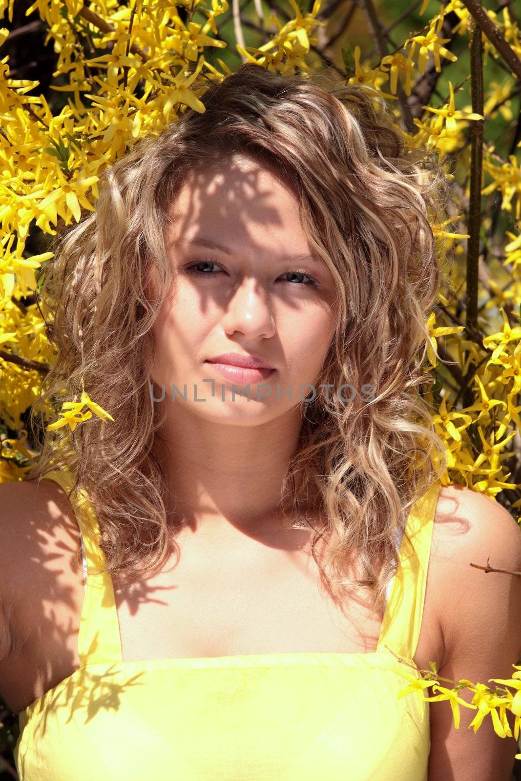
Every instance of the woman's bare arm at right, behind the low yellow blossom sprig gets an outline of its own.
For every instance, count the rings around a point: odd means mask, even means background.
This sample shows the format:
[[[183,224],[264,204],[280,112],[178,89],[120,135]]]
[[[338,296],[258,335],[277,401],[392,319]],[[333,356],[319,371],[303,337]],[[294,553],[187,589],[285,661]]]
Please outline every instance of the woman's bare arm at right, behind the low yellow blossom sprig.
[[[448,515],[441,515],[434,555],[445,645],[438,673],[494,688],[500,684],[489,679],[512,678],[521,654],[521,576],[484,572],[470,562],[487,565],[488,558],[491,567],[521,572],[521,530],[505,508],[484,494],[456,487],[444,494]],[[459,696],[470,702],[473,693],[462,690]],[[429,781],[510,781],[516,740],[498,736],[490,714],[474,733],[469,723],[476,709],[460,706],[459,711],[455,729],[449,702],[430,704]],[[513,735],[514,717],[509,711],[507,717]]]

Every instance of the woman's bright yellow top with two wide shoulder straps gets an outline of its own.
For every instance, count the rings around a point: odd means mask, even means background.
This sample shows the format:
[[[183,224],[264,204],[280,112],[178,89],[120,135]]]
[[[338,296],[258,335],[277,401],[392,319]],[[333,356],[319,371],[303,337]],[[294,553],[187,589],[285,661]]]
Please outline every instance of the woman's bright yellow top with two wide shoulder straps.
[[[70,474],[48,478],[65,490]],[[20,711],[20,781],[426,781],[429,704],[398,699],[423,614],[440,484],[412,505],[376,651],[123,662],[112,578],[82,492],[80,669]]]

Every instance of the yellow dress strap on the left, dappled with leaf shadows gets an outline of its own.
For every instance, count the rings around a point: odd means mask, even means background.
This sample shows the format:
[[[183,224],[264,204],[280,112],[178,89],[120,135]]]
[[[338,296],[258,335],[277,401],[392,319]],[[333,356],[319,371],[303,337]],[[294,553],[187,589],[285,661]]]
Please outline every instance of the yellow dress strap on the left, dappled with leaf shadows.
[[[82,488],[75,499],[70,494],[74,483],[72,473],[55,469],[43,480],[54,480],[66,492],[73,505],[87,563],[87,580],[80,617],[78,655],[80,667],[122,662],[120,622],[110,572],[94,572],[105,567],[105,554],[100,547],[101,534],[94,508]]]

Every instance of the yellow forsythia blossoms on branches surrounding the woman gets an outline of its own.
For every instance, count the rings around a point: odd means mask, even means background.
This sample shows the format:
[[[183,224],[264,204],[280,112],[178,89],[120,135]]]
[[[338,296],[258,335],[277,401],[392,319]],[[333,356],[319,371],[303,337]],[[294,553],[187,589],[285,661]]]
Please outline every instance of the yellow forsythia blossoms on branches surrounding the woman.
[[[302,12],[295,0],[289,2],[294,18],[282,24],[272,13],[266,21],[266,29],[271,26],[271,37],[265,45],[237,45],[245,59],[282,73],[293,73],[295,67],[309,70],[306,57],[317,41],[313,34],[316,27],[324,26],[316,18],[321,0],[315,0],[310,12]],[[420,13],[426,11],[426,5],[424,2]],[[9,4],[0,0],[0,20],[12,20],[12,6],[13,0]],[[186,23],[180,19],[179,8],[187,12]],[[34,302],[37,270],[45,267],[52,253],[30,255],[26,250],[30,231],[31,235],[39,231],[43,237],[51,236],[60,218],[68,225],[80,220],[82,208],[95,209],[102,169],[125,154],[139,138],[156,134],[175,121],[187,106],[204,111],[200,98],[206,88],[230,73],[221,59],[216,58],[220,70],[205,59],[209,47],[213,51],[227,46],[216,37],[216,19],[228,11],[227,0],[180,0],[177,5],[165,0],[149,0],[146,5],[143,0],[130,0],[130,5],[118,0],[85,4],[83,0],[36,0],[27,13],[35,9],[58,55],[55,76],[65,77],[52,89],[65,92],[67,99],[66,105],[53,113],[45,97],[38,95],[38,82],[10,77],[9,57],[0,60],[0,481],[20,480],[37,458],[37,450],[27,439],[24,415],[37,400],[41,377],[53,360]],[[198,23],[193,21],[196,12]],[[441,106],[423,106],[423,117],[414,119],[416,130],[412,133],[401,128],[400,110],[393,104],[398,90],[411,95],[412,85],[425,73],[427,63],[434,60],[439,72],[442,59],[458,59],[444,47],[449,38],[442,37],[446,32],[442,33],[441,28],[448,12],[459,18],[451,34],[468,37],[472,24],[469,10],[462,0],[451,0],[419,34],[405,40],[398,51],[381,57],[376,65],[360,62],[358,46],[352,54],[350,48],[343,50],[346,80],[376,87],[394,106],[397,127],[409,146],[435,150],[450,169],[454,214],[446,223],[433,226],[442,265],[448,251],[455,260],[463,259],[470,237],[465,215],[476,205],[475,196],[469,205],[472,194],[468,183],[473,123],[494,119],[498,112],[505,121],[511,121],[512,96],[516,95],[516,73],[510,67],[505,68],[501,84],[489,85],[483,113],[473,112],[468,105],[456,109],[462,85],[449,81],[449,94]],[[503,8],[501,15],[491,11],[485,14],[519,61],[519,29],[508,9]],[[0,29],[0,45],[8,34],[7,28]],[[484,62],[487,58],[500,59],[498,49],[480,28],[478,34],[482,36]],[[428,321],[432,347],[426,355],[426,366],[434,379],[430,401],[437,410],[437,431],[448,455],[445,483],[462,483],[490,497],[505,491],[514,511],[521,508],[521,482],[509,480],[512,471],[507,470],[507,464],[516,468],[521,426],[519,147],[521,142],[508,159],[502,159],[494,152],[493,144],[485,144],[478,172],[478,196],[494,198],[509,226],[492,242],[494,218],[490,208],[481,209],[479,198],[480,235],[489,255],[494,256],[501,284],[480,273],[479,319],[469,325],[462,320],[466,277],[459,266],[464,264],[452,263],[451,287],[440,291],[439,304]],[[460,228],[453,223],[460,223]],[[468,273],[470,255],[466,260]],[[444,358],[454,362],[448,367],[435,355],[434,348],[441,347]],[[49,425],[71,429],[89,425],[93,414],[112,419],[85,393],[79,400],[62,405],[58,417],[54,408],[48,407],[47,412]],[[476,709],[470,725],[474,731],[490,714],[494,730],[501,737],[512,736],[506,718],[506,711],[512,711],[517,739],[521,666],[513,666],[516,672],[512,672],[512,678],[487,682],[500,684],[494,687],[465,679],[444,679],[433,668],[423,671],[420,680],[411,676],[412,683],[401,696],[410,693],[423,699],[432,687],[438,694],[433,694],[430,701],[448,700],[456,728],[459,706],[463,705]],[[473,692],[471,704],[459,697],[459,690],[465,688]]]

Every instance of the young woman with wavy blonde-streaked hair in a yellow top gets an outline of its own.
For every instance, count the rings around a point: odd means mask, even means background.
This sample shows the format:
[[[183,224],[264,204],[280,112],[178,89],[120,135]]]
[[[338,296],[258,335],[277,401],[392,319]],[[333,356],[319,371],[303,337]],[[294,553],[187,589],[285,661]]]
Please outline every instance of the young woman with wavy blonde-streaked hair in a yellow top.
[[[202,99],[45,278],[45,398],[114,421],[1,487],[20,779],[508,781],[475,710],[398,698],[521,646],[519,579],[469,566],[521,569],[519,530],[441,485],[418,390],[443,174],[356,87],[244,65]]]

